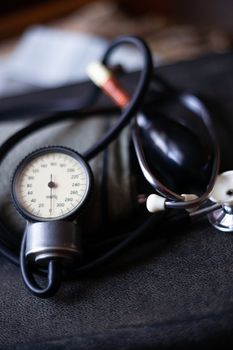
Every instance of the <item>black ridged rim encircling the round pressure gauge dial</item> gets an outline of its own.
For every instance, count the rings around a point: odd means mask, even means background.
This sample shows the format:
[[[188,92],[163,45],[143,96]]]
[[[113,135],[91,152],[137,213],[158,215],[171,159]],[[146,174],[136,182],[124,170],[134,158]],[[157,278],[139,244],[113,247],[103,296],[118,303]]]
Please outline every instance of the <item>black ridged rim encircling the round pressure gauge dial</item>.
[[[73,157],[78,162],[80,162],[82,164],[82,166],[85,168],[85,170],[87,172],[87,181],[88,181],[86,193],[84,194],[78,207],[74,208],[69,213],[64,214],[62,216],[59,216],[59,217],[55,217],[55,218],[38,217],[36,215],[31,214],[30,212],[28,212],[26,209],[23,208],[23,206],[22,206],[22,204],[17,196],[17,189],[16,189],[17,180],[29,162],[31,162],[32,160],[34,160],[35,158],[37,158],[43,154],[57,153],[57,152],[64,153],[64,154],[67,154],[67,155]],[[91,171],[89,164],[87,163],[87,161],[84,159],[84,157],[82,155],[80,155],[78,152],[76,152],[75,150],[68,148],[68,147],[46,146],[46,147],[42,147],[42,148],[39,148],[39,149],[31,152],[25,158],[23,158],[22,161],[18,164],[18,166],[16,167],[16,169],[13,173],[13,177],[12,177],[12,181],[11,181],[11,196],[12,196],[13,203],[14,203],[16,210],[19,212],[20,215],[22,215],[26,220],[28,220],[30,222],[45,222],[45,221],[59,221],[59,220],[71,221],[77,217],[77,212],[79,212],[81,209],[83,209],[83,207],[87,204],[88,199],[90,198],[92,187],[93,187],[93,174],[92,174],[92,171]]]

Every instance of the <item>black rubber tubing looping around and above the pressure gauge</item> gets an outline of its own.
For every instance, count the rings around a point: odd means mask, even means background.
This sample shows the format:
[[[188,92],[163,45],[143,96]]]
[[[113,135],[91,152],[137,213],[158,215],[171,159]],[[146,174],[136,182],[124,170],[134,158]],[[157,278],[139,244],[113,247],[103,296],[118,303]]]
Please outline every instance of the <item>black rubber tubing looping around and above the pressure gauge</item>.
[[[91,160],[93,157],[95,157],[99,152],[103,151],[113,140],[116,139],[116,137],[119,135],[119,133],[122,131],[122,129],[129,124],[132,117],[135,115],[136,111],[140,107],[140,105],[143,102],[143,99],[145,97],[145,94],[148,90],[148,86],[150,83],[150,78],[152,75],[152,58],[150,54],[150,50],[147,47],[146,43],[137,38],[137,37],[120,37],[116,40],[114,40],[109,48],[107,49],[104,58],[103,63],[107,63],[112,51],[116,49],[118,46],[122,44],[131,44],[136,46],[142,53],[143,56],[143,69],[141,71],[138,85],[135,89],[135,92],[133,94],[133,97],[127,107],[122,111],[122,114],[120,118],[117,120],[116,124],[110,128],[110,130],[107,131],[103,135],[103,137],[96,142],[92,147],[90,147],[84,154],[84,157],[87,160]],[[96,111],[88,112],[83,110],[77,111],[79,114],[79,117],[82,116],[91,116],[96,114]],[[7,154],[14,148],[20,141],[22,141],[25,137],[30,135],[31,133],[54,123],[57,123],[59,121],[65,120],[65,119],[71,119],[74,117],[74,113],[60,113],[56,114],[55,116],[50,116],[46,118],[39,119],[37,121],[32,122],[28,126],[24,127],[23,129],[16,132],[14,135],[12,135],[8,140],[6,140],[2,146],[0,147],[0,164],[4,160],[4,158],[7,156]],[[156,219],[158,220],[158,219]],[[115,246],[113,249],[108,251],[103,256],[95,259],[94,261],[90,262],[86,266],[82,266],[80,268],[74,269],[72,271],[72,274],[75,276],[82,274],[84,271],[89,271],[90,269],[102,264],[103,262],[106,262],[108,259],[112,258],[114,255],[116,255],[117,252],[121,251],[124,247],[126,247],[129,243],[131,243],[134,239],[136,239],[140,234],[142,234],[145,229],[150,227],[152,223],[154,222],[153,217],[150,217],[147,219],[145,223],[140,225],[136,230],[129,233],[128,237],[120,242],[117,246]],[[7,227],[4,225],[2,220],[0,220],[0,229],[3,233],[4,237],[7,237],[9,234],[9,231]],[[28,271],[27,268],[27,262],[25,260],[25,255],[23,254],[25,250],[25,238],[22,240],[21,245],[21,268],[22,268],[22,274],[24,274],[25,280],[29,281],[29,289],[36,294],[39,295],[41,292],[41,296],[47,296],[51,295],[53,291],[56,289],[57,284],[59,283],[57,279],[57,265],[51,262],[48,269],[48,286],[45,289],[41,289],[37,283],[35,282],[35,279],[32,275],[32,271]],[[0,244],[0,251],[1,253],[10,261],[13,263],[19,264],[19,260],[17,258],[17,255],[15,252],[13,252],[9,247],[6,247],[4,244]],[[34,290],[32,290],[32,285],[35,286]]]

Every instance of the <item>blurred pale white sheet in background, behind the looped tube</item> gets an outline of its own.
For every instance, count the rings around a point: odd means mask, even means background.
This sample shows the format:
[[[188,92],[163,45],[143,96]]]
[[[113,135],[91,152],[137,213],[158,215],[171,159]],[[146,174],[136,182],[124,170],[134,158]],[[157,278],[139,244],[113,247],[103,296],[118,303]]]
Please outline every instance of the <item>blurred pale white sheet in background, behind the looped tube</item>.
[[[36,87],[56,87],[87,79],[86,67],[99,60],[108,41],[49,27],[33,27],[20,40],[5,64],[7,78]],[[112,63],[128,71],[139,69],[140,53],[131,47],[116,50]]]

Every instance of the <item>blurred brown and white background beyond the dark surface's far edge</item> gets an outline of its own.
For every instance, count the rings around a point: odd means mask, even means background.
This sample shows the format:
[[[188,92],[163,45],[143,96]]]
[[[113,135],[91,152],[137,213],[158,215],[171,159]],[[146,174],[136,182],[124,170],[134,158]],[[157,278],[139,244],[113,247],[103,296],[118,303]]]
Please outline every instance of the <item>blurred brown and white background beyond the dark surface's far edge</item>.
[[[232,14],[232,0],[1,1],[0,96],[85,80],[84,63],[121,34],[145,38],[158,65],[232,50]]]

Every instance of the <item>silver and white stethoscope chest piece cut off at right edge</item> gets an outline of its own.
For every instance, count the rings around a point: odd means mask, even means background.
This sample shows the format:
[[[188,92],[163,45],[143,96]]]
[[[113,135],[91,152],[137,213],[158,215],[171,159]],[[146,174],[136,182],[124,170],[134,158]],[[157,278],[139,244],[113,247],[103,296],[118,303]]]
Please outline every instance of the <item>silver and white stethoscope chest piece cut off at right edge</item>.
[[[217,177],[209,199],[220,208],[208,214],[210,223],[223,232],[233,232],[233,171]]]

